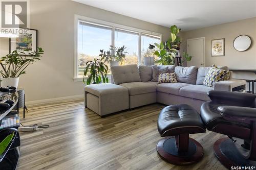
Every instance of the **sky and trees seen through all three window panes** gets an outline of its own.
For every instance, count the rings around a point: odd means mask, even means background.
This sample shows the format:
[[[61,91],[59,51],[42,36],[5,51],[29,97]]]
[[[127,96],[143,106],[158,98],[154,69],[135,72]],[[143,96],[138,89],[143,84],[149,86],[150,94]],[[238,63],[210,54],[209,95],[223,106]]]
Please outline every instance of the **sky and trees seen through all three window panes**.
[[[83,69],[86,66],[86,62],[100,58],[99,54],[102,49],[109,51],[110,45],[112,45],[113,28],[79,21],[77,31],[77,77],[83,77]],[[122,29],[115,29],[114,36],[115,47],[123,45],[126,47],[126,60],[122,65],[140,64],[139,53],[141,53],[141,61],[143,63],[143,55],[147,51],[149,44],[160,42],[159,36],[141,34],[141,44],[139,44],[139,33]],[[141,52],[139,52],[139,45],[141,45]],[[109,63],[106,64],[109,65]]]

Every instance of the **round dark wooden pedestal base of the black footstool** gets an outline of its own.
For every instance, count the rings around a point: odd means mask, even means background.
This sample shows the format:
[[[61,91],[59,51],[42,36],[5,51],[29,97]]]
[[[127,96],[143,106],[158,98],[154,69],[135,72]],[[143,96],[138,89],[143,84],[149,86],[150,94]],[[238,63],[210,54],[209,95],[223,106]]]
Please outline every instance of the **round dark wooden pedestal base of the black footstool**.
[[[157,153],[169,163],[187,165],[201,160],[204,150],[198,141],[182,134],[161,139],[157,143]]]

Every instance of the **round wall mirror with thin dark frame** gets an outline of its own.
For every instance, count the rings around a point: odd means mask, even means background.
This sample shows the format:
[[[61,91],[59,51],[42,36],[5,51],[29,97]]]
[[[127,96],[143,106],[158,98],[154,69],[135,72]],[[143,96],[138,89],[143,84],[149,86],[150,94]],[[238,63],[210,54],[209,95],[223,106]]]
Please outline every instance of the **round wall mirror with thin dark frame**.
[[[251,38],[247,35],[240,35],[234,39],[233,46],[239,52],[248,50],[251,45]]]

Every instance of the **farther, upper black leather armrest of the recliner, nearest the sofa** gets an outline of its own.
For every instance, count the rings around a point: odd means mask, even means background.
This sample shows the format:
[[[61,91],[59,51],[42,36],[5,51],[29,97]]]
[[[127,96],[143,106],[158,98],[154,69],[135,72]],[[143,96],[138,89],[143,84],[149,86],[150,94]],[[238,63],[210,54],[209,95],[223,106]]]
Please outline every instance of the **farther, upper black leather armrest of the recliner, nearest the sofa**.
[[[240,92],[229,92],[229,91],[208,91],[208,96],[211,101],[216,103],[222,103],[225,105],[234,106],[252,106],[256,98],[255,94],[251,93],[240,93]]]

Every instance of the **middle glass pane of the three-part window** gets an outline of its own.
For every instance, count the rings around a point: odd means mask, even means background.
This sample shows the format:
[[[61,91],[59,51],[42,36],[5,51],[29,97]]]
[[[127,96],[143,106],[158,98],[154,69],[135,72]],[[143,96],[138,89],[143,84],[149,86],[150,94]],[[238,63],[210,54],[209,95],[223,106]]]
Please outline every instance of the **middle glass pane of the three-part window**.
[[[115,29],[115,46],[126,47],[126,61],[122,65],[138,64],[139,33]]]

